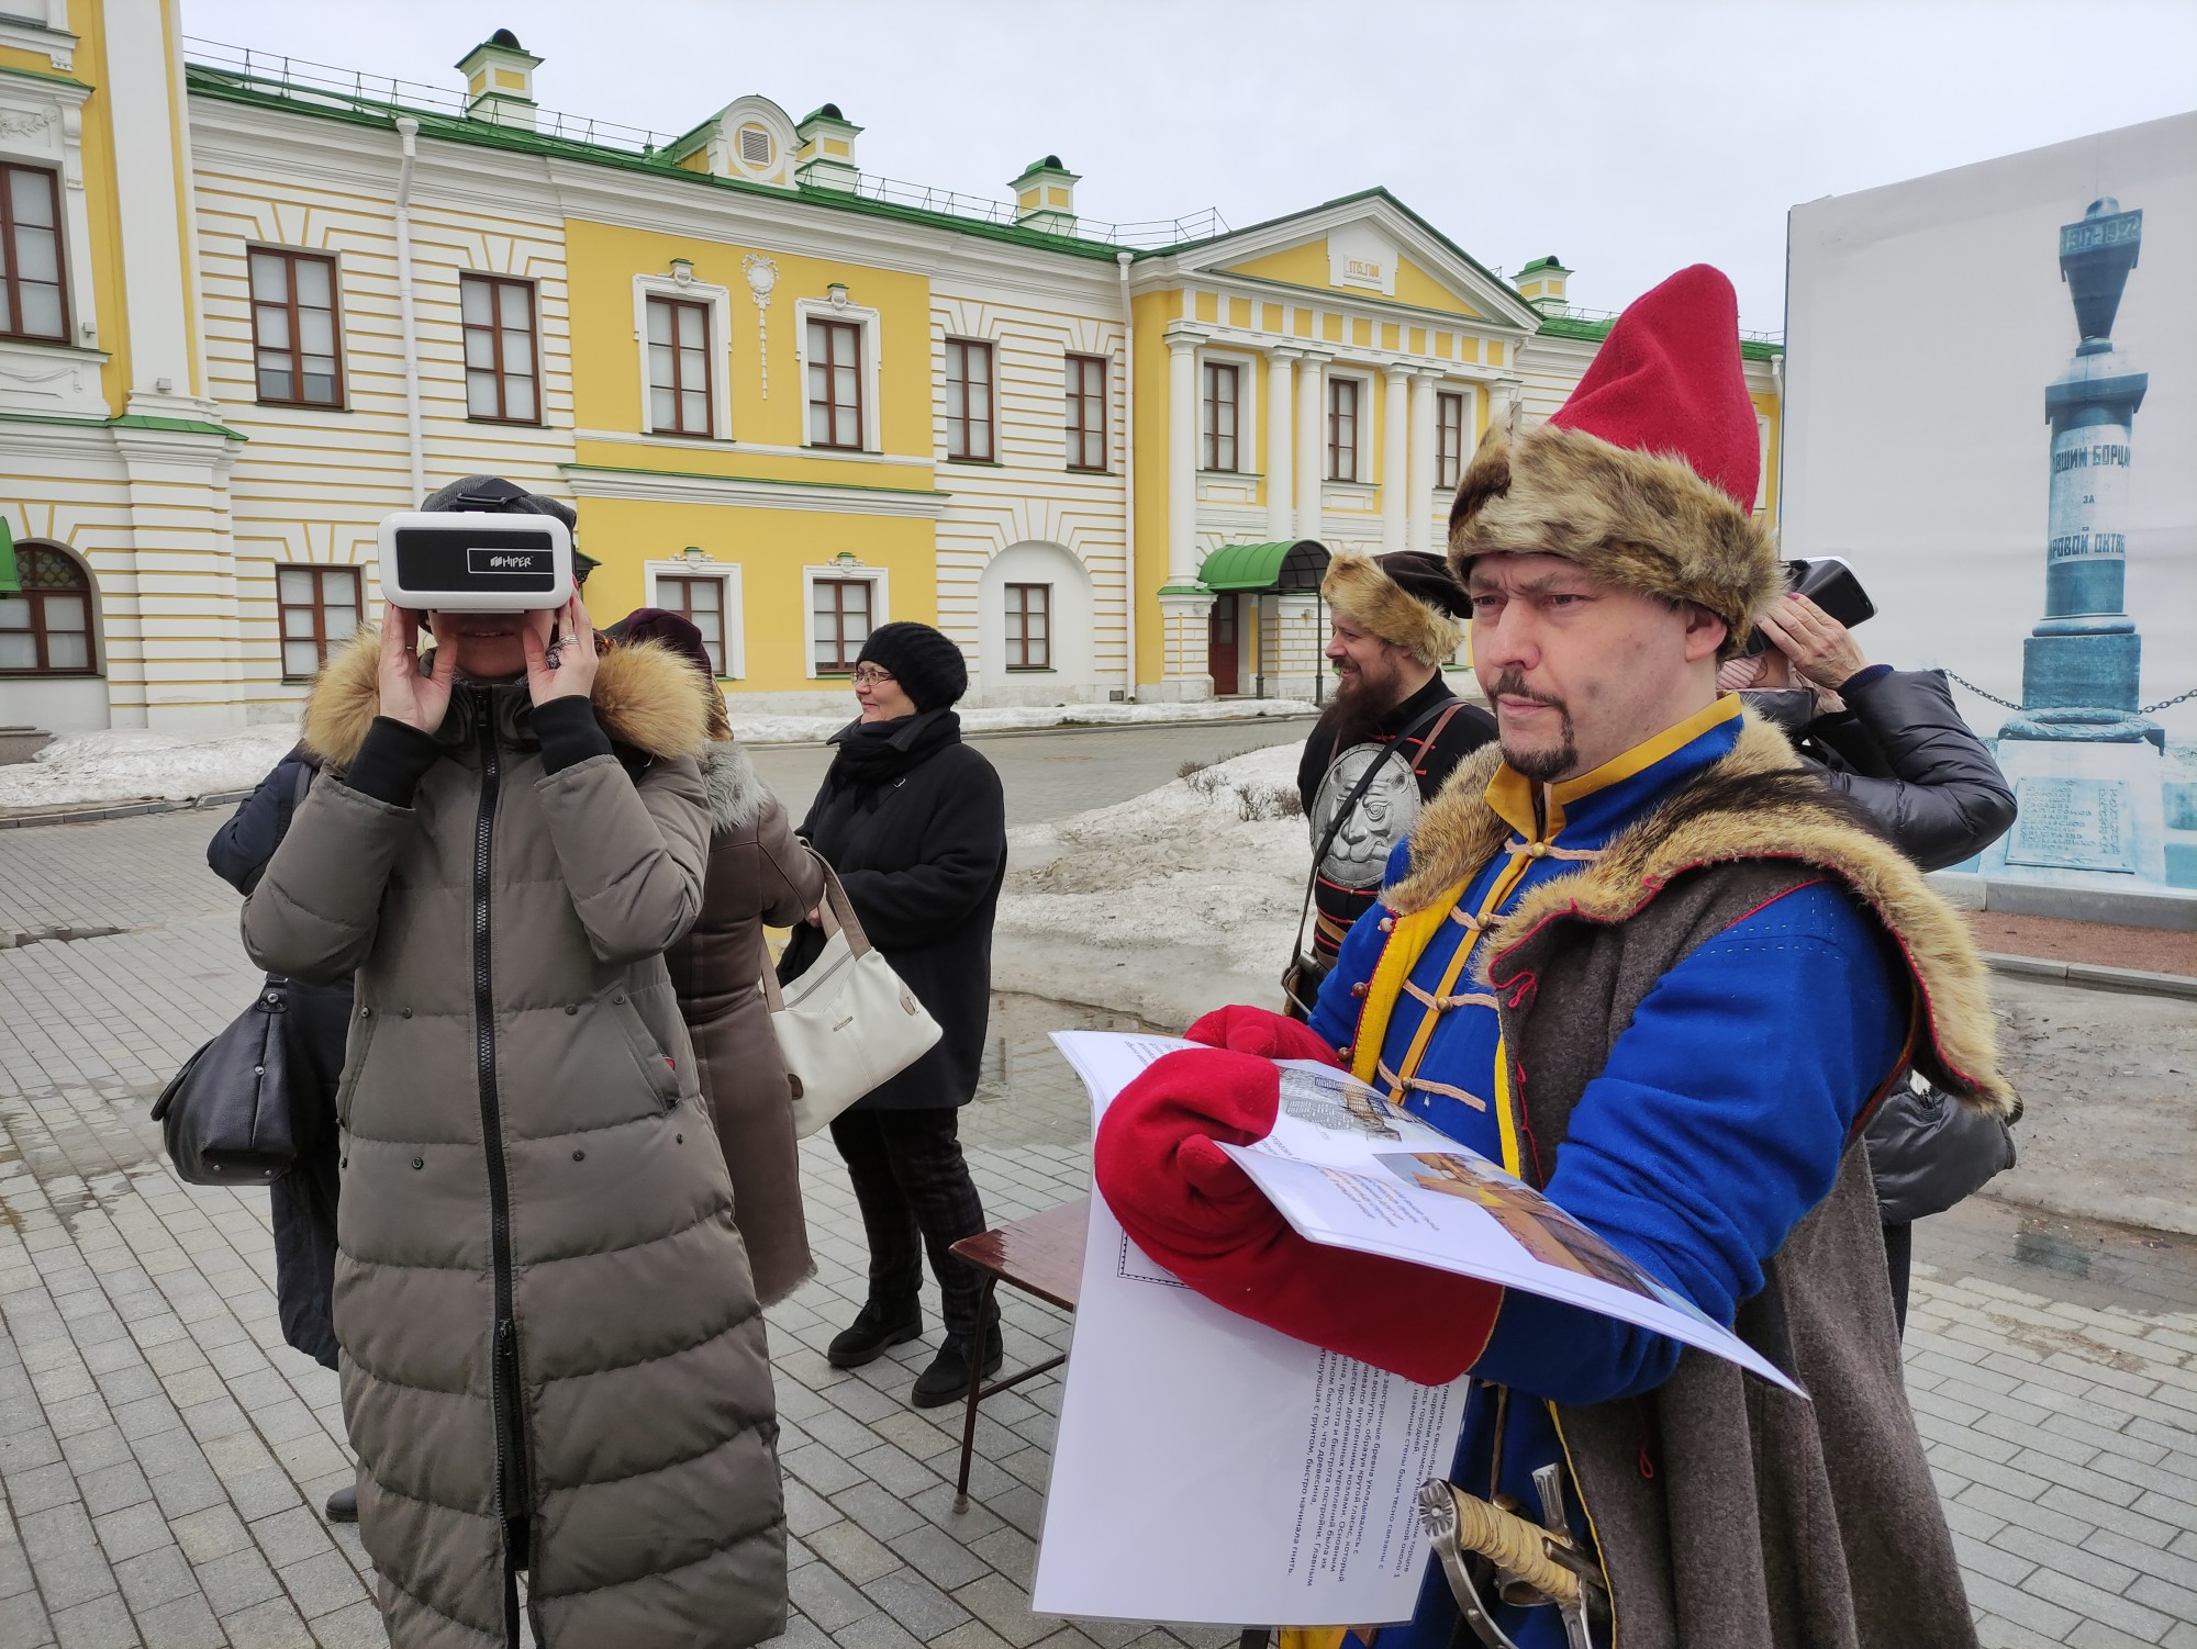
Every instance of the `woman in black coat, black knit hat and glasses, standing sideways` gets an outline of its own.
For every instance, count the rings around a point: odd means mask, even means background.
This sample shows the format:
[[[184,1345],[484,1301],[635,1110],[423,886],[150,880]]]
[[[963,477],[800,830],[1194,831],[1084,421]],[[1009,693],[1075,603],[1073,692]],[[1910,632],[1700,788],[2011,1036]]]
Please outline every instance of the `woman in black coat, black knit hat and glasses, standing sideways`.
[[[938,1021],[938,1045],[830,1124],[870,1238],[870,1298],[826,1357],[859,1368],[923,1333],[916,1291],[929,1249],[945,1346],[916,1379],[916,1407],[969,1390],[969,1361],[1000,1368],[1000,1320],[978,1324],[982,1276],[949,1254],[984,1230],[960,1151],[991,1017],[991,924],[1006,880],[1006,806],[991,762],[960,742],[951,705],[969,689],[960,648],[927,624],[874,630],[855,663],[861,718],[800,834],[839,872],[870,942]],[[793,931],[778,966],[798,979],[824,935]]]

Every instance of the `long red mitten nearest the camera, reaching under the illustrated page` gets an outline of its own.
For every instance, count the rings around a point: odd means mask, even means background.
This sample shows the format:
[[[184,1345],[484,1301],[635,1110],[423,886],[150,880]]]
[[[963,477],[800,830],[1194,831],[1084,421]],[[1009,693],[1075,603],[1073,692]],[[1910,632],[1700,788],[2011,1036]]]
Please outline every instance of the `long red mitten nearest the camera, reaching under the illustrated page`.
[[[1107,1107],[1092,1177],[1136,1245],[1215,1304],[1421,1386],[1463,1375],[1487,1348],[1503,1289],[1290,1230],[1219,1148],[1263,1140],[1279,1109],[1270,1061],[1169,1054]]]

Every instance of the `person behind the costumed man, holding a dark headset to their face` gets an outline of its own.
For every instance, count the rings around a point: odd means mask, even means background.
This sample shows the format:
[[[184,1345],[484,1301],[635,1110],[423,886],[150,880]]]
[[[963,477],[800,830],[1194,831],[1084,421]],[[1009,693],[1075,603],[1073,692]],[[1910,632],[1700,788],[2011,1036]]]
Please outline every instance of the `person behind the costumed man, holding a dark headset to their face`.
[[[1979,854],[2015,823],[2015,793],[1953,707],[1953,689],[1936,670],[1870,663],[1854,632],[1802,593],[1806,569],[1826,562],[1795,567],[1797,588],[1755,621],[1766,646],[1718,670],[1716,685],[1784,727],[1824,779],[1922,870]],[[1834,567],[1859,610],[1872,613],[1843,562]],[[2012,1168],[2015,1142],[1997,1118],[1927,1085],[1896,1089],[1867,1142],[1892,1304],[1905,1328],[1914,1221],[1942,1214]]]

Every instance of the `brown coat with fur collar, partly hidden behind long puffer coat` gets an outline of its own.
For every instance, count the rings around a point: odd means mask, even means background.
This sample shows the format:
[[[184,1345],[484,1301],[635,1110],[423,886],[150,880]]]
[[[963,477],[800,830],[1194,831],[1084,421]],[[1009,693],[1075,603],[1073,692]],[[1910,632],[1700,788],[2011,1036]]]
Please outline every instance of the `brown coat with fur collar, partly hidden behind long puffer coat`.
[[[778,1058],[760,979],[762,924],[793,927],[824,898],[824,867],[787,823],[778,797],[734,742],[701,758],[710,795],[710,872],[701,918],[663,953],[694,1039],[701,1091],[732,1170],[732,1214],[756,1295],[776,1304],[813,1271],[802,1219],[793,1089]]]

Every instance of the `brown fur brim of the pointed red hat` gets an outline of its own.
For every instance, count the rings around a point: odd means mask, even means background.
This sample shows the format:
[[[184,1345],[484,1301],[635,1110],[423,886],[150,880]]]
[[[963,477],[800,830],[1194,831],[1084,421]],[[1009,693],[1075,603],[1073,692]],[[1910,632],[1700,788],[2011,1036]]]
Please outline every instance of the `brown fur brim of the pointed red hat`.
[[[1694,602],[1738,657],[1755,615],[1784,591],[1769,531],[1679,457],[1635,452],[1584,430],[1490,424],[1450,507],[1450,567],[1479,556],[1562,556],[1597,577]]]

